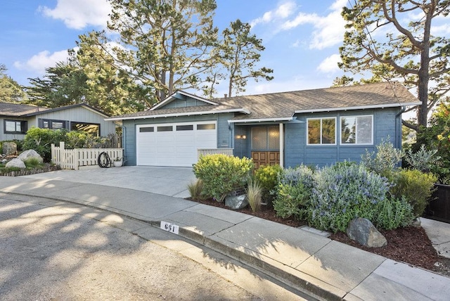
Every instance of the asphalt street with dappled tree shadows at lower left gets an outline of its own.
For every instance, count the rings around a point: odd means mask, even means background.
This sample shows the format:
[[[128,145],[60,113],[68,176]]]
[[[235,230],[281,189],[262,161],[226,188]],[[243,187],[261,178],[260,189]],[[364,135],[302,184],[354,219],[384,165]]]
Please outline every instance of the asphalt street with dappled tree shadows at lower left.
[[[173,239],[164,235],[166,243]],[[253,286],[264,286],[259,282]],[[261,300],[203,264],[122,229],[60,207],[1,197],[0,297]]]

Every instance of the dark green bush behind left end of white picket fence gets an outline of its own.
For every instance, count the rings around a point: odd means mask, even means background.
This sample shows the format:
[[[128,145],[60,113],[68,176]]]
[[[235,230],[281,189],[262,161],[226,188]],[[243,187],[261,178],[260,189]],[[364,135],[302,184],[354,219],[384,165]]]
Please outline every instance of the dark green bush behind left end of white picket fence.
[[[59,145],[60,141],[65,141],[67,131],[57,129],[39,129],[32,127],[28,130],[23,141],[23,150],[33,149],[44,159],[44,162],[51,161],[51,143]]]

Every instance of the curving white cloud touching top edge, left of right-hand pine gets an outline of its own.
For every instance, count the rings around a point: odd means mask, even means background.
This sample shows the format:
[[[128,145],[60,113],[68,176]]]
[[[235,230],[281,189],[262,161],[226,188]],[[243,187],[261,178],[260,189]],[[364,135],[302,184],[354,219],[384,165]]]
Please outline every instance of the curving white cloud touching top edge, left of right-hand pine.
[[[316,13],[300,12],[293,20],[288,20],[281,25],[280,30],[293,30],[300,25],[313,25],[311,32],[310,49],[324,49],[339,44],[344,38],[345,20],[340,15],[342,7],[347,0],[337,0],[331,6],[331,12],[322,17]]]

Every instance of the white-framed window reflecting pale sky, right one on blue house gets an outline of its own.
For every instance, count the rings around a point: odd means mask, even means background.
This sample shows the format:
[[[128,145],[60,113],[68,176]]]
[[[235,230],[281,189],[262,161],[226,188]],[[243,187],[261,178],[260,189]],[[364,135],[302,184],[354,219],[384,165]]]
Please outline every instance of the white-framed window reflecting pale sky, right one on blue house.
[[[340,117],[341,144],[373,144],[373,116]]]

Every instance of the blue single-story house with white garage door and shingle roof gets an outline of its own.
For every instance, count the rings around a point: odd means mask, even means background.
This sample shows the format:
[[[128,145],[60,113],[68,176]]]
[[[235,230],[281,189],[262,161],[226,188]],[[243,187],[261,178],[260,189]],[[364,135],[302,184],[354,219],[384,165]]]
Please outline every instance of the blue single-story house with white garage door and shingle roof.
[[[198,148],[232,148],[255,166],[361,160],[390,137],[401,148],[401,113],[420,102],[397,82],[207,100],[177,91],[122,121],[128,165],[192,166]]]

